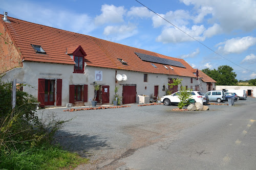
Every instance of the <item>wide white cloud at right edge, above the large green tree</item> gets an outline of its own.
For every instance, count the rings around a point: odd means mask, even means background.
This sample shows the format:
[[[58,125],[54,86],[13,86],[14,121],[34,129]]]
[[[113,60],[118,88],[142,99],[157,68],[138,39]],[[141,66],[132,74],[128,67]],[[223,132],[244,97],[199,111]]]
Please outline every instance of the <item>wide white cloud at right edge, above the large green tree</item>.
[[[220,46],[223,45],[224,46]],[[226,40],[225,42],[220,42],[217,44],[219,46],[218,50],[224,52],[225,54],[229,53],[242,53],[246,51],[250,46],[256,44],[255,37],[243,37],[243,38],[232,38]]]

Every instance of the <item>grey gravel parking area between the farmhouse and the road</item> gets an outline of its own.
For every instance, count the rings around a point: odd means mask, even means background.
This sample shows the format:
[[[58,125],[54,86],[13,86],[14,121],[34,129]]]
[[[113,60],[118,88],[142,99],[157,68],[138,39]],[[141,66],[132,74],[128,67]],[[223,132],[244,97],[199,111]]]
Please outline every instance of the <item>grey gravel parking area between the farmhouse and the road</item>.
[[[56,142],[69,151],[91,159],[92,164],[81,165],[77,169],[115,169],[120,166],[115,164],[120,158],[133,154],[139,148],[164,138],[175,140],[185,128],[255,101],[254,98],[247,98],[236,101],[232,107],[208,105],[208,111],[181,112],[172,111],[177,106],[138,107],[138,104],[132,104],[127,108],[74,112],[63,111],[68,108],[51,108],[37,112],[39,115],[54,113],[60,119],[72,119],[57,132]]]

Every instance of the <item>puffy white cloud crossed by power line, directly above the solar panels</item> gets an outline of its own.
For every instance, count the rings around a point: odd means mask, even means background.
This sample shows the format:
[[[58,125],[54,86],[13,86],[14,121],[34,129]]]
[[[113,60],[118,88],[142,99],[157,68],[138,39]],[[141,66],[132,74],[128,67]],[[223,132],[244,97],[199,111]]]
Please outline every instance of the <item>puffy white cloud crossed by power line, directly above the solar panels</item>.
[[[203,25],[201,26],[192,26],[191,29],[186,28],[185,26],[180,28],[188,35],[194,37],[195,39],[199,41],[204,41],[204,37],[200,36],[205,28]],[[161,35],[159,35],[156,39],[158,42],[163,43],[176,43],[176,42],[185,42],[185,41],[195,41],[193,38],[187,36],[177,28],[166,28],[162,31]]]

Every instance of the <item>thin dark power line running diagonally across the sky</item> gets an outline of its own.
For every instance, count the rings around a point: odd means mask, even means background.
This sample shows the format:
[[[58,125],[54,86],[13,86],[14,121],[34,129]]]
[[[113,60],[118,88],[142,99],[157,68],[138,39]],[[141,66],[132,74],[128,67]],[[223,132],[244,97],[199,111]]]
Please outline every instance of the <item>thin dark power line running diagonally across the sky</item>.
[[[135,0],[135,1],[137,1],[137,0]],[[232,62],[232,61],[230,61],[230,60],[228,60],[227,58],[223,57],[222,55],[220,55],[220,54],[217,53],[216,51],[212,50],[210,47],[206,46],[206,45],[203,44],[202,42],[198,41],[198,40],[195,39],[194,37],[190,36],[189,34],[187,34],[186,32],[184,32],[183,30],[181,30],[180,28],[178,28],[177,26],[175,26],[172,22],[168,21],[167,19],[165,19],[164,17],[162,17],[161,15],[159,15],[158,13],[156,13],[155,11],[153,11],[152,9],[150,9],[150,8],[148,8],[147,6],[143,5],[143,4],[140,3],[139,1],[137,1],[137,2],[138,2],[139,4],[141,4],[142,6],[146,7],[148,10],[152,11],[153,13],[155,13],[156,15],[158,15],[159,17],[161,17],[162,19],[164,19],[166,22],[170,23],[172,26],[174,26],[175,28],[177,28],[177,29],[180,30],[181,32],[183,32],[183,33],[185,33],[186,35],[188,35],[190,38],[193,38],[194,40],[196,40],[196,41],[199,42],[201,45],[205,46],[206,48],[208,48],[210,51],[214,52],[214,53],[217,54],[218,56],[224,58],[225,60],[227,60],[227,61],[229,61],[229,62],[231,62],[231,63],[233,63],[234,65],[237,65],[237,66],[239,66],[239,67],[241,67],[241,68],[243,68],[243,69],[246,69],[246,70],[248,70],[248,71],[254,72],[254,71],[252,71],[252,70],[249,70],[249,69],[247,69],[247,68],[244,68],[244,67],[242,67],[242,66],[240,66],[240,65],[238,65],[238,64],[236,64],[236,63],[234,63],[234,62]]]

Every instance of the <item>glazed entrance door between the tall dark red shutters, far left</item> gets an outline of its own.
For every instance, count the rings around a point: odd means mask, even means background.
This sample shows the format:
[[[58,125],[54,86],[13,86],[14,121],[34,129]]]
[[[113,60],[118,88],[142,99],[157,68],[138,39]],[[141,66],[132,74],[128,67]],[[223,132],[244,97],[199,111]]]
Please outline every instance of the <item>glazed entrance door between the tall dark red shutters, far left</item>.
[[[45,80],[45,105],[54,105],[54,80]]]

